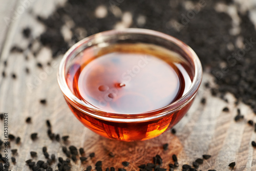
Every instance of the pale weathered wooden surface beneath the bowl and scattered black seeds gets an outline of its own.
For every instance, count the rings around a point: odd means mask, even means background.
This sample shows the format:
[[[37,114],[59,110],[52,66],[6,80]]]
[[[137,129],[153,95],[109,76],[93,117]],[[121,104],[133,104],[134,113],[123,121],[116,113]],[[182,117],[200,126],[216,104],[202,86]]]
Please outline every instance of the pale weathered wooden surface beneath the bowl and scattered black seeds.
[[[235,99],[231,94],[227,94],[229,103],[226,103],[220,98],[212,97],[209,90],[203,86],[188,114],[175,126],[176,135],[168,131],[152,140],[126,143],[102,138],[84,127],[69,110],[57,84],[56,72],[61,57],[52,61],[52,66],[48,68],[50,72],[46,73],[46,63],[51,60],[49,49],[43,48],[36,58],[29,51],[23,54],[9,53],[11,46],[15,44],[27,47],[28,40],[20,33],[24,27],[33,26],[33,37],[44,31],[44,26],[36,22],[35,14],[47,16],[61,3],[61,0],[34,1],[24,13],[6,24],[2,18],[12,17],[13,10],[15,11],[20,4],[16,0],[1,1],[0,72],[5,70],[7,77],[0,77],[0,112],[7,112],[9,115],[9,133],[22,138],[19,145],[11,142],[10,149],[18,149],[18,154],[15,155],[16,164],[11,163],[11,170],[29,170],[25,161],[31,158],[30,151],[37,152],[36,160],[45,160],[41,152],[42,146],[48,147],[50,155],[65,156],[61,151],[61,146],[65,144],[52,142],[48,138],[46,119],[51,120],[54,133],[70,136],[68,145],[83,147],[86,156],[95,152],[96,157],[89,159],[85,164],[81,164],[80,161],[76,164],[72,162],[72,170],[86,169],[88,165],[94,168],[98,160],[103,161],[103,170],[111,166],[121,168],[122,161],[130,162],[125,169],[138,170],[138,165],[152,162],[152,157],[157,154],[163,158],[164,168],[168,168],[167,164],[173,163],[173,154],[178,156],[181,165],[191,165],[197,158],[202,158],[203,154],[209,154],[212,157],[205,160],[199,169],[229,170],[228,164],[236,161],[234,170],[256,170],[256,149],[250,145],[256,137],[253,127],[246,124],[248,119],[256,121],[254,114],[242,103],[234,106]],[[246,7],[248,6],[244,8]],[[24,54],[28,55],[28,61],[25,60]],[[3,65],[4,60],[8,60],[7,68]],[[43,63],[43,69],[36,67],[38,61]],[[30,74],[26,74],[26,67],[30,69]],[[11,77],[12,73],[17,75],[16,79]],[[211,80],[212,77],[204,73],[203,82]],[[34,84],[32,88],[29,86],[31,84]],[[212,81],[211,86],[215,86]],[[200,103],[202,97],[207,99],[205,105]],[[46,105],[39,103],[39,100],[44,98],[47,99]],[[222,112],[225,106],[230,109],[229,113]],[[234,122],[238,107],[245,120]],[[28,116],[32,117],[30,124],[25,122]],[[0,139],[4,139],[3,121],[0,122],[0,129]],[[38,133],[36,141],[30,139],[31,133]],[[163,151],[164,143],[169,144],[168,151]],[[109,157],[109,152],[116,156]],[[8,154],[10,159],[10,151]],[[56,168],[56,163],[52,166]],[[181,170],[181,166],[178,170]]]

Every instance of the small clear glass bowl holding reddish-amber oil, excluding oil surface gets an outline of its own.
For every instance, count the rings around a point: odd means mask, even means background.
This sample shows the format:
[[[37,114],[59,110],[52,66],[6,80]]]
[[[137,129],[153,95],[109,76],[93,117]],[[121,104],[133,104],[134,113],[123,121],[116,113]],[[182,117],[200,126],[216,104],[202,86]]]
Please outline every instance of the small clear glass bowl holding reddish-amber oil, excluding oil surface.
[[[79,60],[80,53],[94,46],[122,43],[153,44],[180,54],[188,63],[191,86],[185,94],[161,109],[143,113],[110,113],[95,108],[76,97],[67,84],[67,71]],[[190,108],[202,80],[202,66],[196,53],[184,42],[153,30],[111,30],[89,36],[77,42],[63,56],[57,74],[59,87],[73,114],[95,133],[122,141],[140,141],[159,136],[173,127]]]

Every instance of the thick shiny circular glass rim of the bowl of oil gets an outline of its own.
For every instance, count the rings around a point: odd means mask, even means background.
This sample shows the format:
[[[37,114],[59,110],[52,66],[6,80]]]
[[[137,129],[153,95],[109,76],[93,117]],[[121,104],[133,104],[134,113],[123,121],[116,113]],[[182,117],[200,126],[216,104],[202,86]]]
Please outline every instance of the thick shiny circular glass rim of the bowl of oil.
[[[72,55],[74,55],[74,53],[77,50],[80,50],[79,49],[80,46],[84,44],[90,44],[90,42],[95,38],[99,38],[101,36],[111,36],[115,34],[145,34],[145,35],[156,36],[156,37],[160,37],[165,40],[171,41],[175,45],[177,45],[179,48],[181,48],[181,50],[183,50],[189,56],[189,58],[191,59],[191,61],[195,66],[195,76],[187,93],[183,95],[181,98],[179,98],[178,100],[170,103],[169,105],[166,105],[162,108],[159,108],[153,111],[142,112],[142,113],[111,113],[111,112],[98,109],[95,106],[89,105],[86,102],[77,98],[71,92],[66,82],[66,64],[68,62],[68,59]],[[78,110],[82,111],[83,113],[86,113],[93,117],[97,117],[104,120],[124,121],[123,119],[125,119],[125,121],[127,121],[128,119],[129,121],[132,121],[132,122],[145,121],[145,120],[156,119],[158,117],[163,117],[170,113],[175,113],[176,111],[183,108],[183,106],[185,106],[188,102],[190,102],[190,100],[193,99],[194,96],[196,95],[202,81],[202,65],[197,54],[184,42],[182,42],[181,40],[173,36],[170,36],[158,31],[154,31],[154,30],[126,28],[122,30],[109,30],[109,31],[96,33],[94,35],[91,35],[89,37],[86,37],[78,41],[65,53],[65,55],[61,59],[59,64],[59,69],[57,72],[57,81],[63,95],[65,95],[66,97],[66,100],[71,102]]]

